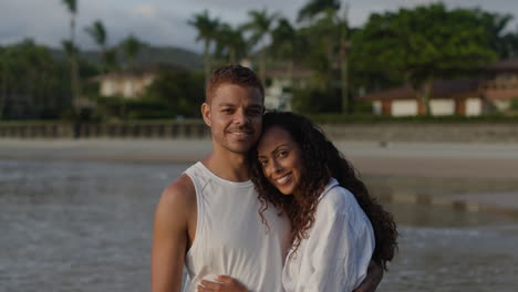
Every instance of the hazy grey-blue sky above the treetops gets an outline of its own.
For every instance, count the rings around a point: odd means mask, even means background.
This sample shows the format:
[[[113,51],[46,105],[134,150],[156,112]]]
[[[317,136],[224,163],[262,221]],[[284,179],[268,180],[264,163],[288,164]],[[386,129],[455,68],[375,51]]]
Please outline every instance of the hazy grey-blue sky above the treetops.
[[[247,12],[266,8],[294,21],[308,0],[77,0],[76,40],[82,50],[95,48],[84,28],[101,20],[108,34],[108,45],[133,33],[153,45],[174,45],[201,51],[196,30],[187,24],[194,14],[209,11],[232,25],[245,22]],[[345,2],[343,0],[342,2]],[[432,0],[349,0],[349,20],[362,25],[373,12],[396,11],[436,2]],[[508,29],[518,30],[518,1],[445,0],[449,8],[479,7],[515,17]],[[0,45],[32,38],[38,43],[59,48],[70,35],[70,14],[62,0],[0,0]]]

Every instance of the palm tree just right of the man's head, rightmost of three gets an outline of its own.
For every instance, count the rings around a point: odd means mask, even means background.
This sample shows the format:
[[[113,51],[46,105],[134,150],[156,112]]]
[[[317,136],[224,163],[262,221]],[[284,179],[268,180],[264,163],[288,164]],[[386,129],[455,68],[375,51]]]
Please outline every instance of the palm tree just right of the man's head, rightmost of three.
[[[261,11],[252,10],[248,12],[250,21],[245,23],[244,29],[252,33],[250,42],[252,45],[259,44],[259,77],[265,83],[266,72],[266,45],[265,38],[271,33],[271,24],[278,18],[277,13],[269,14],[266,9]]]

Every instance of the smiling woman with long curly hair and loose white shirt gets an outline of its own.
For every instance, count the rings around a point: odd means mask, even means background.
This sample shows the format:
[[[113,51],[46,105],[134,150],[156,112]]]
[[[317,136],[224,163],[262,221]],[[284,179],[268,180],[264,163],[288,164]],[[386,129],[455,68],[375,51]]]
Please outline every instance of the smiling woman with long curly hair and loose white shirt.
[[[371,257],[386,270],[397,248],[392,216],[311,121],[267,113],[251,163],[260,212],[271,206],[291,222],[282,275],[287,292],[352,291]]]

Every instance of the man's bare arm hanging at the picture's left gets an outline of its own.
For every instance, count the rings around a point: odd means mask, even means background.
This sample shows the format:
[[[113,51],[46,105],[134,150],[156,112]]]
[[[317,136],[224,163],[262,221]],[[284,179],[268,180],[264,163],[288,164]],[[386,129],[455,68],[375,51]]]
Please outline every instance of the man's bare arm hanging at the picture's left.
[[[168,186],[156,207],[152,251],[152,291],[179,292],[188,247],[188,220],[196,213],[194,185],[186,175]]]

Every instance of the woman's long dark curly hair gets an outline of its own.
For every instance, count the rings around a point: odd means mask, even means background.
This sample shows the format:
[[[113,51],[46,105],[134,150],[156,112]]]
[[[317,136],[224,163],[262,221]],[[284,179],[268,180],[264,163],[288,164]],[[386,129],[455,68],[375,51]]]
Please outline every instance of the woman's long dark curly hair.
[[[334,177],[340,186],[354,195],[370,219],[376,244],[372,258],[386,270],[386,262],[394,258],[397,249],[397,230],[392,215],[370,196],[365,185],[356,177],[353,166],[310,119],[289,112],[266,113],[262,132],[273,126],[287,131],[300,147],[303,169],[297,191],[303,196],[296,199],[294,196],[282,195],[273,187],[262,174],[257,148],[251,149],[251,180],[259,192],[259,213],[262,221],[267,223],[262,213],[270,205],[286,213],[291,222],[291,247],[297,251],[301,240],[308,238],[308,230],[313,226],[321,192],[330,178]]]

